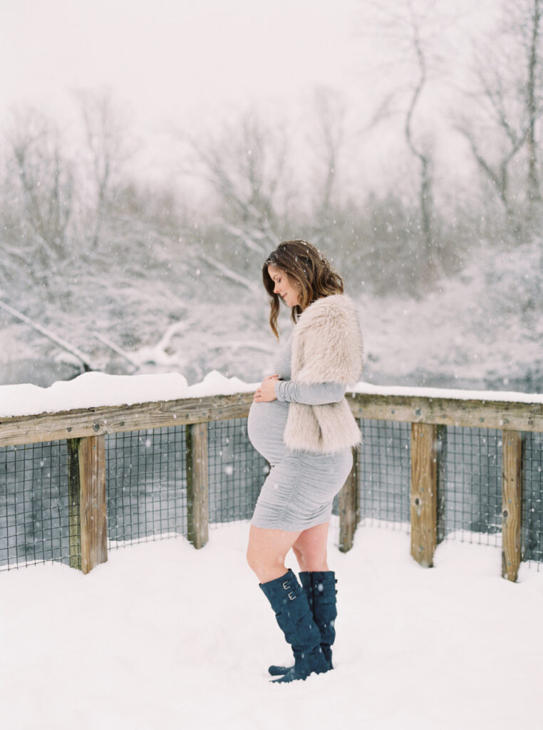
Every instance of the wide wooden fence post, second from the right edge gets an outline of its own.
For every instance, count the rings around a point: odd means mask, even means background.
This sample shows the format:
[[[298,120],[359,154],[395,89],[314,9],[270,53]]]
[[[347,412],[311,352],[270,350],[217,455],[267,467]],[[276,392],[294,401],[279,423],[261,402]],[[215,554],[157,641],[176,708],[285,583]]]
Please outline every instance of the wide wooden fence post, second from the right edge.
[[[411,554],[428,568],[437,542],[436,437],[434,424],[411,424]]]

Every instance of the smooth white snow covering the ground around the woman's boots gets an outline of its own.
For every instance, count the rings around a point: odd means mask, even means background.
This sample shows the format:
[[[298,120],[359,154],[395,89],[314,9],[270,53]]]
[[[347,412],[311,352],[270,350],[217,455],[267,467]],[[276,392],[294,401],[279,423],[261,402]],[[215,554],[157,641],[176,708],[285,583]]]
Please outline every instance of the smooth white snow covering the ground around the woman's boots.
[[[403,532],[331,544],[336,669],[269,683],[289,651],[248,569],[249,526],[111,550],[83,576],[0,574],[6,730],[458,730],[542,726],[543,572],[500,577],[497,548],[446,542],[436,567]],[[294,561],[290,560],[294,566]]]

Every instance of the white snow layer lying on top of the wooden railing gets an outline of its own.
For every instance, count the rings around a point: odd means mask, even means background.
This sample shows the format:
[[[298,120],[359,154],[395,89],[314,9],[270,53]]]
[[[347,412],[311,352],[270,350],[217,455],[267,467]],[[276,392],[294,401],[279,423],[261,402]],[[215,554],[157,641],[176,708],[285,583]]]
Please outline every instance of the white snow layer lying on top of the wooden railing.
[[[251,393],[257,383],[244,383],[237,377],[225,377],[214,370],[201,383],[188,385],[180,373],[146,375],[107,375],[88,372],[53,383],[50,388],[38,385],[1,385],[0,417],[54,413],[76,408],[131,405],[181,398]],[[369,395],[421,396],[426,398],[458,398],[482,401],[543,403],[542,393],[515,391],[466,391],[454,388],[412,388],[358,383],[355,393]]]

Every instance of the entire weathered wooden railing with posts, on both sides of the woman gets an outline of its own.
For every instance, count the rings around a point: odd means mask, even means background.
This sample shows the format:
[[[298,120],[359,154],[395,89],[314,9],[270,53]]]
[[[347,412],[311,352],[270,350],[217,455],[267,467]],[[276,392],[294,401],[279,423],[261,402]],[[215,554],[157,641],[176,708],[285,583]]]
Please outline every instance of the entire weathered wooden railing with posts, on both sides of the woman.
[[[105,434],[188,426],[188,536],[208,539],[207,428],[214,420],[245,418],[252,393],[206,396],[130,406],[104,406],[0,418],[0,446],[66,439],[69,453],[70,564],[89,572],[107,560]],[[522,431],[543,431],[543,404],[423,395],[348,393],[355,418],[411,423],[411,553],[432,566],[437,544],[440,443],[444,426],[503,431],[502,575],[516,580],[520,565]],[[356,464],[356,460],[355,460]],[[359,521],[356,466],[339,494],[339,548],[353,545]]]

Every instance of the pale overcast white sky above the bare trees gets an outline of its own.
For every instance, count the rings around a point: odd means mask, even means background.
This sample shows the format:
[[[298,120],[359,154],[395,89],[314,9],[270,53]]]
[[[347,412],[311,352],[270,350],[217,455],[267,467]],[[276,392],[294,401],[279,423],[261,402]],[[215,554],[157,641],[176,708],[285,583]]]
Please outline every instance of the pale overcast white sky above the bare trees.
[[[455,66],[474,24],[497,4],[439,0],[455,18],[455,37],[443,47]],[[146,177],[167,174],[172,129],[209,128],[215,118],[220,125],[259,103],[280,120],[293,110],[301,125],[315,113],[304,104],[317,86],[342,92],[355,110],[353,128],[363,128],[386,93],[373,78],[374,58],[391,50],[390,39],[366,32],[367,13],[362,0],[0,0],[0,128],[11,107],[26,104],[79,120],[72,91],[109,90],[120,120],[145,139],[134,169]],[[409,68],[396,53],[385,85],[398,84],[405,69],[411,83]],[[421,131],[448,93],[425,93]],[[385,180],[404,153],[400,117],[398,124],[388,134],[380,126],[366,139],[363,164],[353,163],[368,180]],[[440,153],[454,163],[457,145],[447,140]]]

